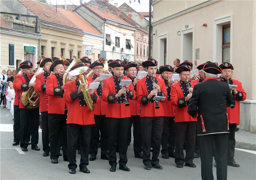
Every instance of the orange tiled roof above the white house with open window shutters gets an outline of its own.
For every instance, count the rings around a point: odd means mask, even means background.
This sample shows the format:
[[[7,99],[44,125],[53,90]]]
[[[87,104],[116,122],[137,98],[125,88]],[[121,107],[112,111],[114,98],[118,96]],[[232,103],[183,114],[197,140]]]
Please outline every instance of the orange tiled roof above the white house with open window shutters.
[[[120,18],[119,16],[117,16],[115,14],[112,14],[110,12],[107,13],[106,11],[95,9],[94,7],[91,7],[91,6],[86,6],[86,7],[88,7],[89,9],[94,11],[95,13],[97,13],[102,18],[105,18],[105,19],[110,20],[110,21],[114,21],[116,23],[121,23],[121,24],[124,24],[124,25],[133,26],[133,25],[129,24],[128,22],[126,22],[124,19]]]

